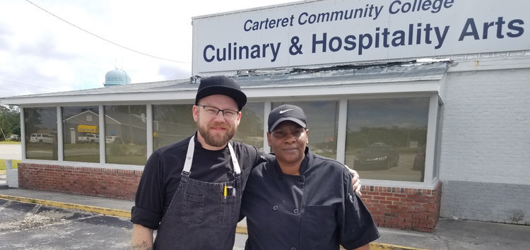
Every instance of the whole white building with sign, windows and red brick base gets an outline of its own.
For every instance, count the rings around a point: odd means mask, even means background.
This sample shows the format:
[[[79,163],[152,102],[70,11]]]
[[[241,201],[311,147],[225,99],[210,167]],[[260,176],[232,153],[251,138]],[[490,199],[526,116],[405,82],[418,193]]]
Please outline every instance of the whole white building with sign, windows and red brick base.
[[[439,216],[529,225],[527,7],[302,1],[196,17],[199,77],[1,99],[23,108],[19,185],[134,198],[146,157],[194,133],[200,76],[225,74],[249,97],[237,140],[269,151],[269,111],[300,105],[310,147],[358,170],[379,226],[432,231]],[[119,143],[65,139],[95,121]],[[30,133],[57,140],[34,145]],[[57,169],[80,174],[53,179]]]

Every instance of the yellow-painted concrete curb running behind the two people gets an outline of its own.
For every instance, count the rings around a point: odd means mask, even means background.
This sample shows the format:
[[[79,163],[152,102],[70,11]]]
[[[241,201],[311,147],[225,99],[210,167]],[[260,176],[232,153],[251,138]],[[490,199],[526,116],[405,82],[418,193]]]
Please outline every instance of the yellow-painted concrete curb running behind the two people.
[[[84,210],[90,213],[99,213],[102,215],[110,215],[110,216],[120,217],[120,218],[131,218],[131,211],[128,211],[128,210],[102,208],[102,207],[97,207],[97,206],[80,205],[80,204],[66,203],[66,202],[60,202],[60,201],[48,201],[48,200],[42,200],[38,198],[8,196],[5,194],[0,194],[0,198],[4,200],[20,201],[24,203],[35,203],[35,204],[40,204],[40,205],[45,205],[45,206],[52,206],[56,208],[78,209],[78,210]],[[247,227],[242,226],[242,225],[237,225],[237,227],[235,228],[235,232],[237,234],[248,234]],[[372,250],[379,250],[379,249],[380,250],[425,250],[425,249],[418,249],[418,248],[413,248],[409,246],[399,246],[399,245],[394,245],[394,244],[384,244],[384,243],[376,243],[376,242],[370,243],[370,249]]]

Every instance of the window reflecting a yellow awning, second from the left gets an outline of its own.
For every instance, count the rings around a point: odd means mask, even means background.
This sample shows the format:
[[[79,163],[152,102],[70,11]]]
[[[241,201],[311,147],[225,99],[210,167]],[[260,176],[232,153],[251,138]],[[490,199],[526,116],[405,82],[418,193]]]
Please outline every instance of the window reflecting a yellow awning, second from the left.
[[[62,107],[64,160],[100,162],[97,106]]]

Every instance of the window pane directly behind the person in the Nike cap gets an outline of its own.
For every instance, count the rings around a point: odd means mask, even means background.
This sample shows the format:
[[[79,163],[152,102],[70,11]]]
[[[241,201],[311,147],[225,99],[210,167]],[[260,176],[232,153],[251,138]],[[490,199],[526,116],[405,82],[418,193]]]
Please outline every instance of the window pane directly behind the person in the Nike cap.
[[[310,130],[308,146],[312,152],[336,159],[338,102],[273,102],[272,108],[284,104],[296,105],[304,109],[307,118],[307,129]]]

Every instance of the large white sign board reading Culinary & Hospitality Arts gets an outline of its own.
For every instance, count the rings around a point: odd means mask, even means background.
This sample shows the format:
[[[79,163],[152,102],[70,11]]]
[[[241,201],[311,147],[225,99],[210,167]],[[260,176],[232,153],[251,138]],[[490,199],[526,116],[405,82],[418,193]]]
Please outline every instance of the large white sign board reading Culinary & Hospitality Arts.
[[[530,49],[528,0],[331,0],[193,18],[193,73]]]

